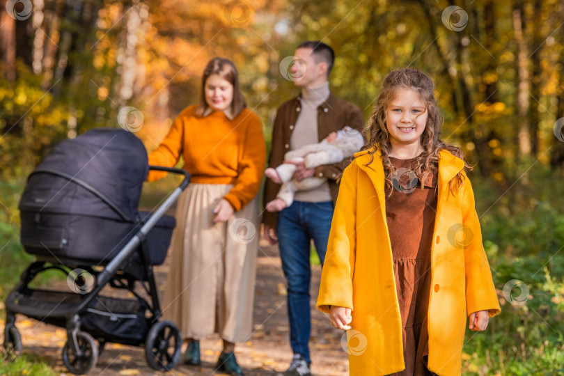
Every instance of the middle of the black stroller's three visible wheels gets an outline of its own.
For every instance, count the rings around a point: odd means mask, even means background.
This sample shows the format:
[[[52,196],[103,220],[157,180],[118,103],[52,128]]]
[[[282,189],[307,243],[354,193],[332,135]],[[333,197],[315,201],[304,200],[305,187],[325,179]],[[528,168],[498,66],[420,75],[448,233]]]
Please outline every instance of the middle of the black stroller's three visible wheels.
[[[75,375],[88,373],[98,360],[98,347],[94,338],[84,331],[77,332],[77,343],[81,354],[72,349],[72,338],[63,347],[63,363]]]

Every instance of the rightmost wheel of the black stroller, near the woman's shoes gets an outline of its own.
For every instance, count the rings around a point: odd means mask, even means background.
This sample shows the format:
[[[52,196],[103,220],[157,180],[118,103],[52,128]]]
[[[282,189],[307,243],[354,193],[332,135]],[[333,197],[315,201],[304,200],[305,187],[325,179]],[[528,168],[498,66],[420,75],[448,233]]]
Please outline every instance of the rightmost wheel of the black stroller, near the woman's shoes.
[[[171,370],[180,359],[182,340],[174,322],[160,321],[154,324],[145,342],[145,357],[154,370]]]

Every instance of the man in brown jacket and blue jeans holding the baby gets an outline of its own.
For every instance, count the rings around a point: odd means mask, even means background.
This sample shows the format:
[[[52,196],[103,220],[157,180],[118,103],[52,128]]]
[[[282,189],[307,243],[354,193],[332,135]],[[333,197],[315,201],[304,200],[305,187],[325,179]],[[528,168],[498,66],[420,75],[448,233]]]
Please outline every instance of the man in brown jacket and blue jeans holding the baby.
[[[329,133],[347,125],[356,130],[363,129],[361,109],[329,91],[328,76],[334,58],[333,49],[320,41],[303,42],[297,47],[286,78],[301,88],[301,94],[282,104],[276,113],[269,167],[275,168],[284,162],[285,152],[318,143]],[[304,162],[292,163],[296,164],[293,178],[297,180],[313,175],[327,178],[320,187],[297,192],[292,205],[281,212],[265,212],[263,217],[265,238],[270,244],[279,242],[282,268],[288,281],[290,345],[294,359],[283,375],[307,376],[311,375],[308,348],[311,332],[311,240],[323,263],[338,194],[336,178],[348,161],[315,169],[306,169]],[[279,189],[280,185],[267,180],[264,202],[276,198]]]

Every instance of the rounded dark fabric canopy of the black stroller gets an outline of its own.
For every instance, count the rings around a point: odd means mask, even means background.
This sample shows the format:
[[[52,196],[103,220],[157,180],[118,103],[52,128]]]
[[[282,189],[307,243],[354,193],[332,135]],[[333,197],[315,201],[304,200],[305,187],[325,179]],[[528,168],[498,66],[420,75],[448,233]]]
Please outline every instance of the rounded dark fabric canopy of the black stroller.
[[[134,134],[116,128],[97,128],[54,146],[29,175],[26,191],[36,185],[34,180],[42,180],[38,185],[45,184],[45,174],[56,175],[68,180],[65,184],[74,183],[95,194],[123,220],[134,221],[148,170],[145,146]],[[71,198],[63,197],[65,189],[61,192],[52,194],[48,202],[34,199],[37,196],[31,191],[29,195],[24,192],[20,210],[104,216],[100,203],[85,200],[80,205],[69,205]]]

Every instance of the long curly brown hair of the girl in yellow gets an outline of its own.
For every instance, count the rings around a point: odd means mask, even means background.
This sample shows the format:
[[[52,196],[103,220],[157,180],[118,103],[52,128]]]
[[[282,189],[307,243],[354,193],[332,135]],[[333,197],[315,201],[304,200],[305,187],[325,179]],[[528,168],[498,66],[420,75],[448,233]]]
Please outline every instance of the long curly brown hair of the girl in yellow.
[[[395,171],[389,159],[389,152],[391,150],[390,135],[386,126],[386,109],[390,102],[394,100],[398,89],[412,89],[419,94],[421,101],[425,104],[425,111],[427,111],[427,123],[425,130],[421,134],[421,148],[423,152],[418,155],[414,161],[414,173],[420,182],[425,182],[430,173],[435,176],[439,171],[439,152],[447,150],[464,161],[464,152],[458,146],[451,143],[442,141],[439,136],[443,127],[444,118],[437,106],[437,100],[434,98],[434,84],[432,79],[425,75],[420,70],[412,68],[400,68],[393,70],[384,78],[382,84],[382,91],[380,91],[377,99],[375,109],[368,120],[366,125],[366,133],[370,134],[368,144],[364,147],[373,148],[369,153],[374,160],[374,153],[380,150],[382,153],[382,164],[384,165],[385,175],[385,191],[391,194],[392,182],[391,173]],[[367,166],[368,166],[367,164]],[[472,166],[464,162],[464,169],[458,173],[453,180],[448,182],[448,187],[453,194],[458,191],[460,185],[464,181],[464,172],[471,171]],[[455,184],[453,185],[453,182]]]

